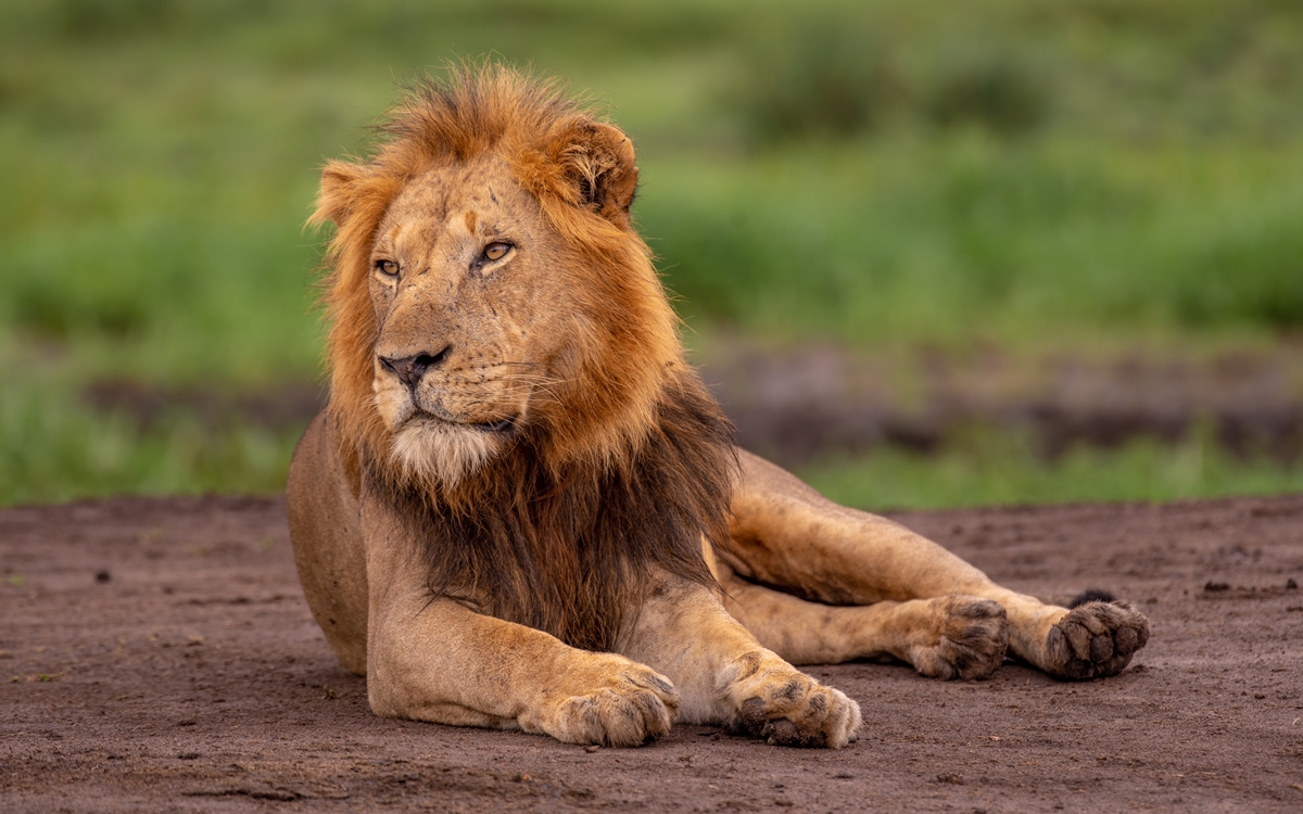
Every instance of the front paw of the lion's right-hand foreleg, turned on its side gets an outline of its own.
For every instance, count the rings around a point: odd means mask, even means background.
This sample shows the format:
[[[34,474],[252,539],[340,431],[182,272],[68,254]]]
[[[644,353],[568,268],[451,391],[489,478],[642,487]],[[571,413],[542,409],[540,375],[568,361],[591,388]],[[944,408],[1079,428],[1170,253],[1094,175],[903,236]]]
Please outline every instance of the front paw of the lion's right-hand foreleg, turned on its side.
[[[860,731],[860,705],[840,690],[823,686],[777,656],[737,681],[730,695],[737,703],[732,728],[778,746],[840,749]],[[754,655],[741,660],[754,660]],[[745,668],[744,668],[745,672]]]

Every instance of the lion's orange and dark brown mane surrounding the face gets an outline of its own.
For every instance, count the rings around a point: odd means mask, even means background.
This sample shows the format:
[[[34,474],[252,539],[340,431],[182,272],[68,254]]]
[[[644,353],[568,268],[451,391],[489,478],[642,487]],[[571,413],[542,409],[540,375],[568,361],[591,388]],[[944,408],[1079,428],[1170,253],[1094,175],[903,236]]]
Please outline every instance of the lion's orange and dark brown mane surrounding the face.
[[[590,109],[555,85],[493,65],[418,83],[379,132],[371,158],[326,167],[323,177],[347,184],[323,182],[313,216],[336,224],[323,300],[328,410],[345,471],[423,540],[434,595],[609,650],[653,567],[713,583],[701,540],[727,540],[736,466],[732,427],[684,362],[678,320],[628,219],[632,152],[622,164]],[[448,486],[395,460],[374,408],[370,251],[410,178],[486,152],[506,158],[538,199],[599,324],[573,340],[576,380],[530,413],[507,451]]]

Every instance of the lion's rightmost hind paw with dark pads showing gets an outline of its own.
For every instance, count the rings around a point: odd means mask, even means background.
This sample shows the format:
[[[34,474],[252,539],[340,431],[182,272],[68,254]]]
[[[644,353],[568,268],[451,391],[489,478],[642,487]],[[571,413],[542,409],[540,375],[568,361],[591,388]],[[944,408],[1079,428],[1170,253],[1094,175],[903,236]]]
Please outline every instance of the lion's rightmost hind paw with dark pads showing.
[[[1068,611],[1045,639],[1045,672],[1085,681],[1122,672],[1149,641],[1149,620],[1128,602],[1087,602]]]

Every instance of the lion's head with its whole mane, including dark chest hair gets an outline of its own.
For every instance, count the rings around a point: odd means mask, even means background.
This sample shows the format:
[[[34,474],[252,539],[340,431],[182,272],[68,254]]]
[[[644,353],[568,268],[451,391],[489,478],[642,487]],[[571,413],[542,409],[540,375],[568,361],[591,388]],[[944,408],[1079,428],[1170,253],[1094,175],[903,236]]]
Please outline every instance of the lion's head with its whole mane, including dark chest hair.
[[[710,582],[735,465],[629,221],[633,147],[498,66],[380,130],[314,215],[344,466],[427,540],[434,593],[609,647],[650,565]]]

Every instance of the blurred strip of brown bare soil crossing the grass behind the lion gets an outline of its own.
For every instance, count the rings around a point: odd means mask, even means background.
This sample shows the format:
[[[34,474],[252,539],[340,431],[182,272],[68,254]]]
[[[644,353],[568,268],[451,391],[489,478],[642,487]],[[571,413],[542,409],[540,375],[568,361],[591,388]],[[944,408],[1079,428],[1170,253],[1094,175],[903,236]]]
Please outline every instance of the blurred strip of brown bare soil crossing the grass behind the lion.
[[[1208,358],[1089,359],[980,349],[868,358],[835,346],[726,343],[702,359],[702,375],[741,445],[784,466],[881,445],[932,453],[975,427],[1028,438],[1049,458],[1076,445],[1179,443],[1194,432],[1242,456],[1303,455],[1303,353],[1290,344]],[[206,426],[288,431],[306,426],[324,395],[300,382],[232,393],[112,380],[86,388],[83,400],[143,430],[189,415]]]

